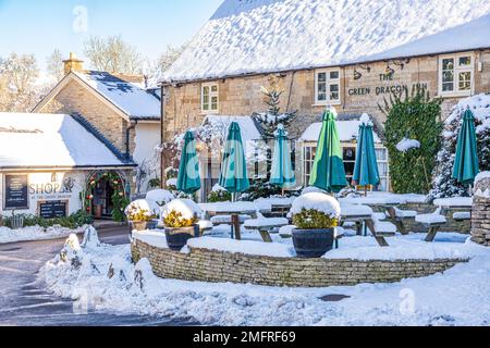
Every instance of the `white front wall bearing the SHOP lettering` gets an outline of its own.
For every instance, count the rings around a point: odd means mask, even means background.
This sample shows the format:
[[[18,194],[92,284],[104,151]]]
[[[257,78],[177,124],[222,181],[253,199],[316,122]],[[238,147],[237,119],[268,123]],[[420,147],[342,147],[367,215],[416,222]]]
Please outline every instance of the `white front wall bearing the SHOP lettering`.
[[[52,182],[52,174],[57,173],[56,182]],[[15,173],[26,174],[26,173]],[[2,215],[10,216],[12,211],[4,210],[4,175],[0,174],[0,213]],[[29,209],[28,210],[15,210],[15,213],[21,214],[38,214],[38,201],[51,201],[51,200],[66,200],[69,202],[69,214],[75,213],[83,208],[83,203],[79,198],[79,194],[85,187],[85,181],[87,177],[86,172],[51,172],[51,173],[29,173],[28,175],[28,197]],[[73,189],[66,191],[63,189],[63,181],[65,178],[73,179]],[[54,189],[54,187],[57,189]]]

